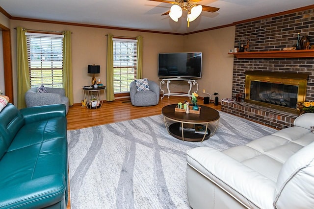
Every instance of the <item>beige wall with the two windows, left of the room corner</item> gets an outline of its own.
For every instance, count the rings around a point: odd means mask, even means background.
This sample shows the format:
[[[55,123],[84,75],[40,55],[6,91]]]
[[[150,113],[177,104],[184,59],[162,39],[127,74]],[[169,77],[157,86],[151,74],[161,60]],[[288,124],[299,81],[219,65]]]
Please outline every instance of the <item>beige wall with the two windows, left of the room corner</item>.
[[[106,34],[114,36],[136,37],[142,35],[143,40],[143,77],[147,77],[159,83],[157,77],[157,54],[163,51],[172,51],[176,48],[183,50],[183,36],[165,35],[157,33],[143,33],[136,31],[112,30],[94,27],[82,27],[73,25],[34,23],[26,21],[11,21],[12,30],[12,56],[14,71],[14,86],[16,87],[16,30],[17,26],[50,31],[70,30],[72,39],[72,68],[73,68],[73,94],[74,103],[83,99],[82,86],[90,85],[92,75],[87,73],[87,66],[96,64],[101,66],[97,79],[106,82]],[[16,91],[15,96],[16,96]],[[15,100],[16,101],[16,100]]]

